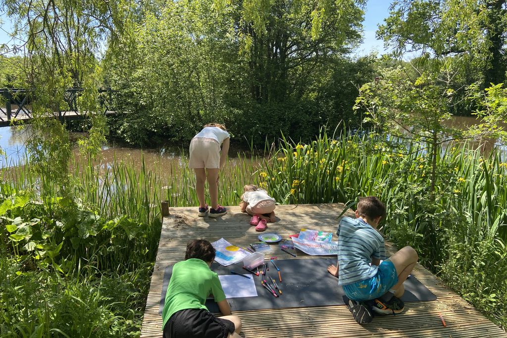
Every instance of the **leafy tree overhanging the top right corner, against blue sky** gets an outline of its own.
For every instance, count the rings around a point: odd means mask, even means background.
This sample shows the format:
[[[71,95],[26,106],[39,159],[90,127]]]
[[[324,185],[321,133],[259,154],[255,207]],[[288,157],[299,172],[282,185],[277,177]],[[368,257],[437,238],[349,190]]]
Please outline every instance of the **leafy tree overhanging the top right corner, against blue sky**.
[[[484,89],[505,82],[505,0],[395,1],[377,36],[397,55],[418,52],[463,74],[478,69],[466,85],[480,81]]]

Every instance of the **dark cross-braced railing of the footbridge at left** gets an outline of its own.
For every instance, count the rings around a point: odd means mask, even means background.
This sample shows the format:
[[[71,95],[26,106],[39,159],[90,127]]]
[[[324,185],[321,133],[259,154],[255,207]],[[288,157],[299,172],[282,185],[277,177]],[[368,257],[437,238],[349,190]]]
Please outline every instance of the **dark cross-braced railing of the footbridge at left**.
[[[9,122],[12,119],[31,119],[32,112],[30,108],[30,95],[27,95],[31,90],[26,88],[4,88],[0,89],[0,96],[3,96],[5,101],[5,109],[0,106],[0,122]],[[78,98],[82,95],[84,89],[82,88],[69,88],[64,93],[65,102],[68,105],[68,109],[64,111],[60,107],[55,110],[58,118],[62,119],[68,117],[71,112],[74,112],[74,116],[86,115],[86,112],[78,109]],[[100,106],[104,109],[104,112],[112,111],[113,97],[112,95],[118,91],[112,89],[99,89],[99,102]],[[17,108],[13,109],[13,106],[17,105]]]

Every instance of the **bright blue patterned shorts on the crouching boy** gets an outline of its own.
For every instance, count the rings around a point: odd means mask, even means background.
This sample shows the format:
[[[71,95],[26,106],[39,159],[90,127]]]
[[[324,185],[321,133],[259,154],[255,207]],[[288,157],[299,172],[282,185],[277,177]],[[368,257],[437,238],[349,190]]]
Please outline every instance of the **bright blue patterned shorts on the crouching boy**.
[[[377,274],[369,279],[342,285],[345,295],[354,301],[369,301],[389,291],[398,282],[396,268],[390,260],[380,263]]]

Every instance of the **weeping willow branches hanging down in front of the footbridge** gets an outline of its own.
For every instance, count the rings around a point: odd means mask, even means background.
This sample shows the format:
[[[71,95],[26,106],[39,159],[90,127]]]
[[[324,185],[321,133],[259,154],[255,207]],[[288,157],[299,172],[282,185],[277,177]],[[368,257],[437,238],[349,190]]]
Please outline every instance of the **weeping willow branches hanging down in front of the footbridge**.
[[[110,50],[114,51],[117,42],[128,36],[125,32],[130,21],[125,9],[130,5],[128,0],[0,2],[15,23],[12,33],[25,42],[12,52],[23,54],[22,72],[29,88],[33,134],[27,149],[31,152],[31,169],[47,178],[43,183],[60,185],[61,194],[71,191],[70,144],[68,132],[56,119],[58,111],[68,106],[68,88],[83,88],[77,103],[92,121],[89,142],[83,141],[83,145],[87,152],[96,153],[105,130],[104,119],[98,114],[101,109],[97,89],[102,78],[97,56],[107,37]],[[44,188],[43,184],[42,194]]]

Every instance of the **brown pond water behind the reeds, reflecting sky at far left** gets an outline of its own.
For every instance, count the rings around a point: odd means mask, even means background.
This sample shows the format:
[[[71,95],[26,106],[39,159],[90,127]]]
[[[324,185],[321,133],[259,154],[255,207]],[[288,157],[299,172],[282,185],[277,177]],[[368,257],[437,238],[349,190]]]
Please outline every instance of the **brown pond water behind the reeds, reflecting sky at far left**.
[[[449,122],[450,126],[467,129],[470,126],[477,124],[477,120],[474,117],[454,117]],[[10,167],[23,163],[25,154],[25,143],[27,138],[30,136],[31,128],[29,125],[23,128],[17,127],[1,127],[0,128],[0,147],[4,151],[4,155],[0,156],[0,168]],[[72,137],[79,137],[79,133],[73,133]],[[229,151],[229,162],[230,165],[234,166],[236,162],[240,162],[238,159],[239,154],[245,154],[247,158],[250,157],[250,149],[242,149],[234,147],[234,142],[231,144]],[[486,142],[470,143],[470,147],[481,146],[481,150],[487,154],[496,147],[500,150],[500,154],[503,159],[507,158],[507,146],[502,144],[499,140],[490,139]],[[188,152],[188,145],[180,144],[171,146],[161,146],[157,148],[132,148],[118,144],[106,144],[102,148],[102,157],[105,163],[112,163],[115,158],[118,160],[128,161],[134,164],[141,164],[141,159],[144,158],[150,168],[169,168],[171,165],[181,165],[182,153]]]

